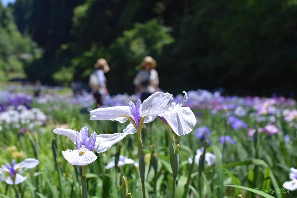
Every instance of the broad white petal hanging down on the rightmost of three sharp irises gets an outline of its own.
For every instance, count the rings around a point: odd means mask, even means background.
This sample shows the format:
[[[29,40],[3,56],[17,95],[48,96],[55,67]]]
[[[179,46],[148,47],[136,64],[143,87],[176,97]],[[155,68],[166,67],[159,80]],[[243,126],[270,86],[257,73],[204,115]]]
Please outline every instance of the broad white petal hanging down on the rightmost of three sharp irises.
[[[196,118],[189,107],[174,108],[165,111],[163,116],[177,135],[185,135],[191,132],[196,125]]]

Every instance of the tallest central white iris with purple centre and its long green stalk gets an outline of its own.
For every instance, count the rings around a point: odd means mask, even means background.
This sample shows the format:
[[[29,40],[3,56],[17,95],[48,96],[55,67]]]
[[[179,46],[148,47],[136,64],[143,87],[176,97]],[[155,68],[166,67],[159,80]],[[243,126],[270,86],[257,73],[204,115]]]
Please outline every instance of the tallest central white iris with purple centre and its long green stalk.
[[[141,138],[143,123],[153,121],[157,115],[168,110],[172,100],[173,98],[171,94],[156,92],[143,101],[143,103],[138,99],[136,104],[129,102],[129,107],[107,107],[90,111],[90,120],[115,120],[121,123],[124,123],[127,120],[130,121],[127,128],[124,129],[124,134],[137,133],[138,136],[139,173],[143,198],[146,197],[144,188],[145,162]]]

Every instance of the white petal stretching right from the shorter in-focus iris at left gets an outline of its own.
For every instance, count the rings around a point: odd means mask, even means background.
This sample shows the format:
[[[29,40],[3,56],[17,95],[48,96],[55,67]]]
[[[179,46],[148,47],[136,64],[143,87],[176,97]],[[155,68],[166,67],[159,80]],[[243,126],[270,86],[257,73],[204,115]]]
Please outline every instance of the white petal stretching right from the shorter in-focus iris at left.
[[[114,134],[100,134],[97,135],[96,143],[94,146],[94,151],[97,153],[103,153],[110,149],[110,147],[126,137],[124,133],[114,133]]]

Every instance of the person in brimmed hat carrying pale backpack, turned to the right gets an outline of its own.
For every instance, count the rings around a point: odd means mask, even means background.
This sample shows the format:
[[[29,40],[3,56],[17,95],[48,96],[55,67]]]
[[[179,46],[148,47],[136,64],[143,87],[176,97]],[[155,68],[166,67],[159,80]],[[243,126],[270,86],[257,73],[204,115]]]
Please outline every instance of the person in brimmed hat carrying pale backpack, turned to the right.
[[[99,107],[102,105],[102,95],[108,94],[104,73],[108,72],[110,69],[104,58],[99,58],[94,64],[94,68],[94,72],[90,75],[89,86],[96,99],[96,105]]]

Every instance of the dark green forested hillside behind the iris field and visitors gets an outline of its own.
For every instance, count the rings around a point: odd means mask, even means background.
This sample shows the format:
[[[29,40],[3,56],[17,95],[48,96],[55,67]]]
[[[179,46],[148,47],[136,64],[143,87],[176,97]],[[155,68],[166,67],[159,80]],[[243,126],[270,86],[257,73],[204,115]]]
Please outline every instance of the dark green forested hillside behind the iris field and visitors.
[[[172,94],[297,93],[296,0],[16,0],[0,3],[0,81],[88,82],[98,58],[110,94],[134,92],[144,56]]]

